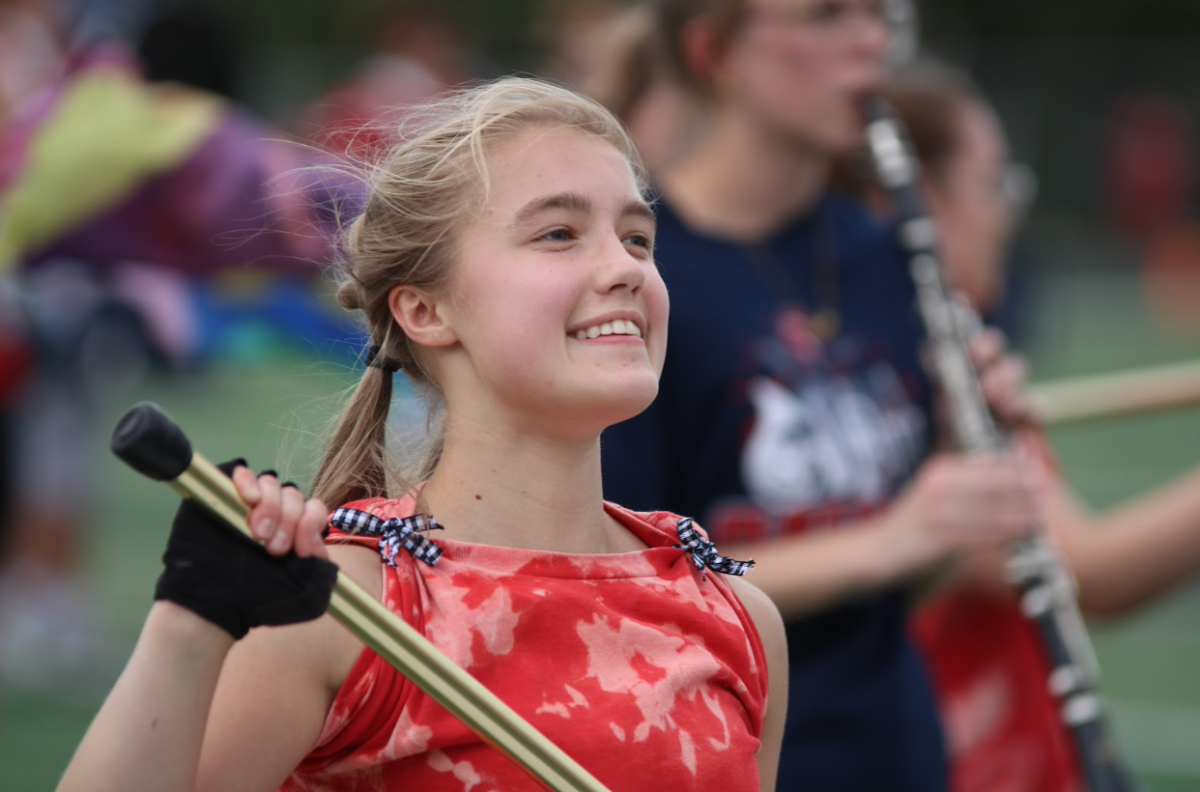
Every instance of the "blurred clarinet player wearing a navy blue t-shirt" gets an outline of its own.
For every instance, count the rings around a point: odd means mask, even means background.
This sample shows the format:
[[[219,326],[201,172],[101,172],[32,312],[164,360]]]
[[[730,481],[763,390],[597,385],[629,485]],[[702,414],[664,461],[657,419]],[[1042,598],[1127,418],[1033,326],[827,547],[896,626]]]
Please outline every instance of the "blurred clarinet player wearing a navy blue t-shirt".
[[[605,432],[606,497],[694,515],[755,558],[791,655],[778,788],[944,790],[912,589],[1019,535],[1036,499],[1010,456],[936,452],[906,257],[830,190],[883,82],[882,8],[649,7],[649,41],[704,121],[654,174],[671,343],[654,404]],[[602,98],[637,108],[638,86],[661,84],[637,72],[646,52]],[[994,408],[1026,419],[1019,366],[995,337],[976,352]]]

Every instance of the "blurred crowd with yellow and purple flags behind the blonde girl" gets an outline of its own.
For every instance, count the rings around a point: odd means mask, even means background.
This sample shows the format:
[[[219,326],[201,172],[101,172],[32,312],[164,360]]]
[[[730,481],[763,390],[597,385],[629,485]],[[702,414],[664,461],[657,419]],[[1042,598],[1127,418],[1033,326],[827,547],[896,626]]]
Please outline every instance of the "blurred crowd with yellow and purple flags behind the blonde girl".
[[[468,77],[424,4],[302,118],[238,100],[239,37],[202,4],[0,2],[0,680],[86,676],[103,619],[77,570],[97,400],[154,370],[353,361],[326,271],[372,122]],[[18,529],[19,527],[19,529]],[[102,673],[110,672],[104,664]]]

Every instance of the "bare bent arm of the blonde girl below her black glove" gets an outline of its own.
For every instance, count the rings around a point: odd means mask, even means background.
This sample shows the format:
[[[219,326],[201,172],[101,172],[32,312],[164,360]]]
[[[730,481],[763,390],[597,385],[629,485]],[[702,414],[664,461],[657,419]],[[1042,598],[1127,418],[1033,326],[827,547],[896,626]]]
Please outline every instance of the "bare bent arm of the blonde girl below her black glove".
[[[378,556],[331,554],[379,594]],[[361,650],[329,616],[234,643],[191,611],[155,602],[59,792],[277,790],[316,744]]]

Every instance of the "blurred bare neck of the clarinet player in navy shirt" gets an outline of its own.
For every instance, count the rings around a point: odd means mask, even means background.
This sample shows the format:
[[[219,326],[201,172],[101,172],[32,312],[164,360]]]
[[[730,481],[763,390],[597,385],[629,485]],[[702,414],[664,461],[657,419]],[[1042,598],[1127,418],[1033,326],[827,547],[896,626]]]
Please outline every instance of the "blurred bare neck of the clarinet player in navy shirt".
[[[817,203],[829,168],[827,152],[726,113],[659,181],[694,228],[757,242]]]

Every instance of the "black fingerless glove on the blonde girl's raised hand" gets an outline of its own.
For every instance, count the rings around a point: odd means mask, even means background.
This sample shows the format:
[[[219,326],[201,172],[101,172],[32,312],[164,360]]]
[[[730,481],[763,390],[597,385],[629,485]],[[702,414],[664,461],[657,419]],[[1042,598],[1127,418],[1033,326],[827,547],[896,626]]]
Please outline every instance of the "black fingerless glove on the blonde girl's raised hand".
[[[226,474],[245,464],[218,464]],[[170,600],[212,622],[235,640],[263,624],[294,624],[329,607],[337,565],[295,553],[271,556],[251,539],[185,499],[162,557],[156,600]]]

